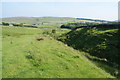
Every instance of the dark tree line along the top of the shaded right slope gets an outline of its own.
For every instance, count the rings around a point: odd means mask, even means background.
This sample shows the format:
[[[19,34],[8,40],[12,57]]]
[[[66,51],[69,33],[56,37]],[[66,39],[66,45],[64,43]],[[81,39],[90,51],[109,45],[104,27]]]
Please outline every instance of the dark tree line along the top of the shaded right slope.
[[[120,28],[120,22],[112,22],[112,23],[68,23],[65,25],[61,25],[60,28],[66,28],[71,30],[76,30],[78,28]]]

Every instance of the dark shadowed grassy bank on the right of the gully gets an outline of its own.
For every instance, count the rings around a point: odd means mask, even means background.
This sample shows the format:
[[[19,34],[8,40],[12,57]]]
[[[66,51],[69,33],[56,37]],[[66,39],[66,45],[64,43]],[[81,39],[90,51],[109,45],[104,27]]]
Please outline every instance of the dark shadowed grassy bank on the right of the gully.
[[[101,58],[93,59],[99,66],[119,77],[119,32],[118,29],[78,29],[67,33],[60,38],[73,48],[85,51],[92,56]],[[107,62],[104,60],[107,59]],[[113,64],[116,63],[116,64]]]

